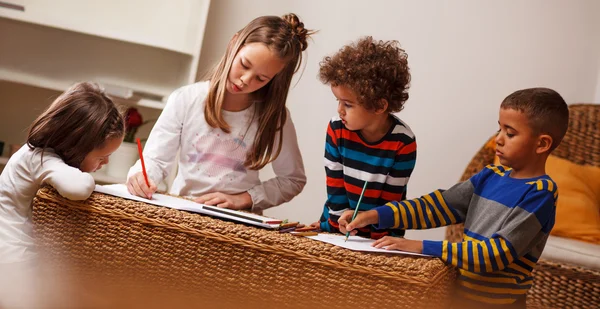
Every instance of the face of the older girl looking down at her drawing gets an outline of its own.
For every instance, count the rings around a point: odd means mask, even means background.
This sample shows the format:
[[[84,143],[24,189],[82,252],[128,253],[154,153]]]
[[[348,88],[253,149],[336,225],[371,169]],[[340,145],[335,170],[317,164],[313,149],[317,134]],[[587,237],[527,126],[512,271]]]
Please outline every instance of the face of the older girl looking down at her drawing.
[[[227,77],[227,92],[252,93],[269,83],[285,65],[286,61],[280,59],[265,44],[245,44],[233,59]]]

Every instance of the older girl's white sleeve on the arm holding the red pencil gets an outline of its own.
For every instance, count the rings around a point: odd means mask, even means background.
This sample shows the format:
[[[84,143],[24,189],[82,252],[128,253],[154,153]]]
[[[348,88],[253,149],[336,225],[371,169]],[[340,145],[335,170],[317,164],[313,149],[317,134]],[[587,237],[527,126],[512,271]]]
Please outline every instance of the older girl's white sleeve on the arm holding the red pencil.
[[[158,185],[172,171],[181,144],[186,102],[181,90],[173,92],[154,124],[144,146],[144,164],[148,177]],[[129,169],[127,178],[141,172],[142,165],[137,160]]]

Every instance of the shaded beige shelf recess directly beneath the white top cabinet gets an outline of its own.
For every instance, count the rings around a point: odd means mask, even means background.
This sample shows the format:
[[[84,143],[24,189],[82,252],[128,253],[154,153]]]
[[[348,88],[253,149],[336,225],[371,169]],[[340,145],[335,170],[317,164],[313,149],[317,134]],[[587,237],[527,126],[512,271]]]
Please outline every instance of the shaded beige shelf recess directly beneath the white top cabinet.
[[[1,80],[57,92],[79,81],[117,85],[140,94],[135,100],[152,100],[144,106],[157,109],[173,90],[195,81],[199,57],[199,51],[184,55],[2,17],[0,38]]]

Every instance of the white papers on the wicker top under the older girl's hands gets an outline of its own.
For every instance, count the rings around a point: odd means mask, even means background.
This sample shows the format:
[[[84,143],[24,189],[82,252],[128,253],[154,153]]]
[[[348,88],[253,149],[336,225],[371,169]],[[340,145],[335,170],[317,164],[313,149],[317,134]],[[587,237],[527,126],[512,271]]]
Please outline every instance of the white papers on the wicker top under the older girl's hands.
[[[252,225],[269,228],[269,229],[274,229],[274,228],[279,227],[279,224],[267,224],[267,223],[257,222],[257,221],[253,221],[253,220],[240,218],[240,217],[237,217],[236,215],[242,214],[245,217],[255,218],[260,221],[273,220],[271,218],[259,216],[257,214],[246,213],[246,212],[242,213],[242,212],[239,212],[236,210],[226,209],[226,208],[219,208],[218,210],[220,212],[215,212],[215,211],[211,210],[211,208],[214,208],[213,206],[199,204],[199,203],[196,203],[193,201],[189,201],[189,200],[185,200],[182,198],[177,198],[177,197],[173,197],[173,196],[169,196],[169,195],[155,193],[155,194],[152,194],[152,199],[149,200],[147,198],[135,196],[135,195],[129,193],[129,191],[127,190],[127,186],[125,186],[124,184],[114,184],[114,185],[104,185],[104,186],[96,185],[96,188],[94,189],[94,191],[113,195],[113,196],[122,197],[122,198],[125,198],[128,200],[140,201],[140,202],[144,202],[144,203],[148,203],[148,204],[152,204],[152,205],[169,207],[169,208],[178,209],[178,210],[196,212],[196,213],[200,213],[200,214],[205,214],[205,215],[218,217],[218,218],[222,218],[222,219],[233,220],[233,221],[237,221],[237,222],[243,222],[243,223],[252,224]],[[223,211],[231,213],[232,215],[221,213]]]

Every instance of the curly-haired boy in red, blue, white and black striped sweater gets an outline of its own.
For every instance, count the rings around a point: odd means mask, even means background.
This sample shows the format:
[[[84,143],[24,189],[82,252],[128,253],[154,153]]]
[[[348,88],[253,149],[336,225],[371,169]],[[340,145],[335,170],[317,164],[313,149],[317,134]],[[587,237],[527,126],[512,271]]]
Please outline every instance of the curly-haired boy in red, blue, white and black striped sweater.
[[[321,230],[339,232],[338,218],[355,209],[365,182],[360,210],[406,199],[417,144],[406,123],[392,113],[408,100],[407,55],[397,41],[359,39],[321,62],[319,77],[338,101],[338,115],[327,127],[325,172],[327,200]],[[361,228],[374,239],[403,236],[404,230]]]

